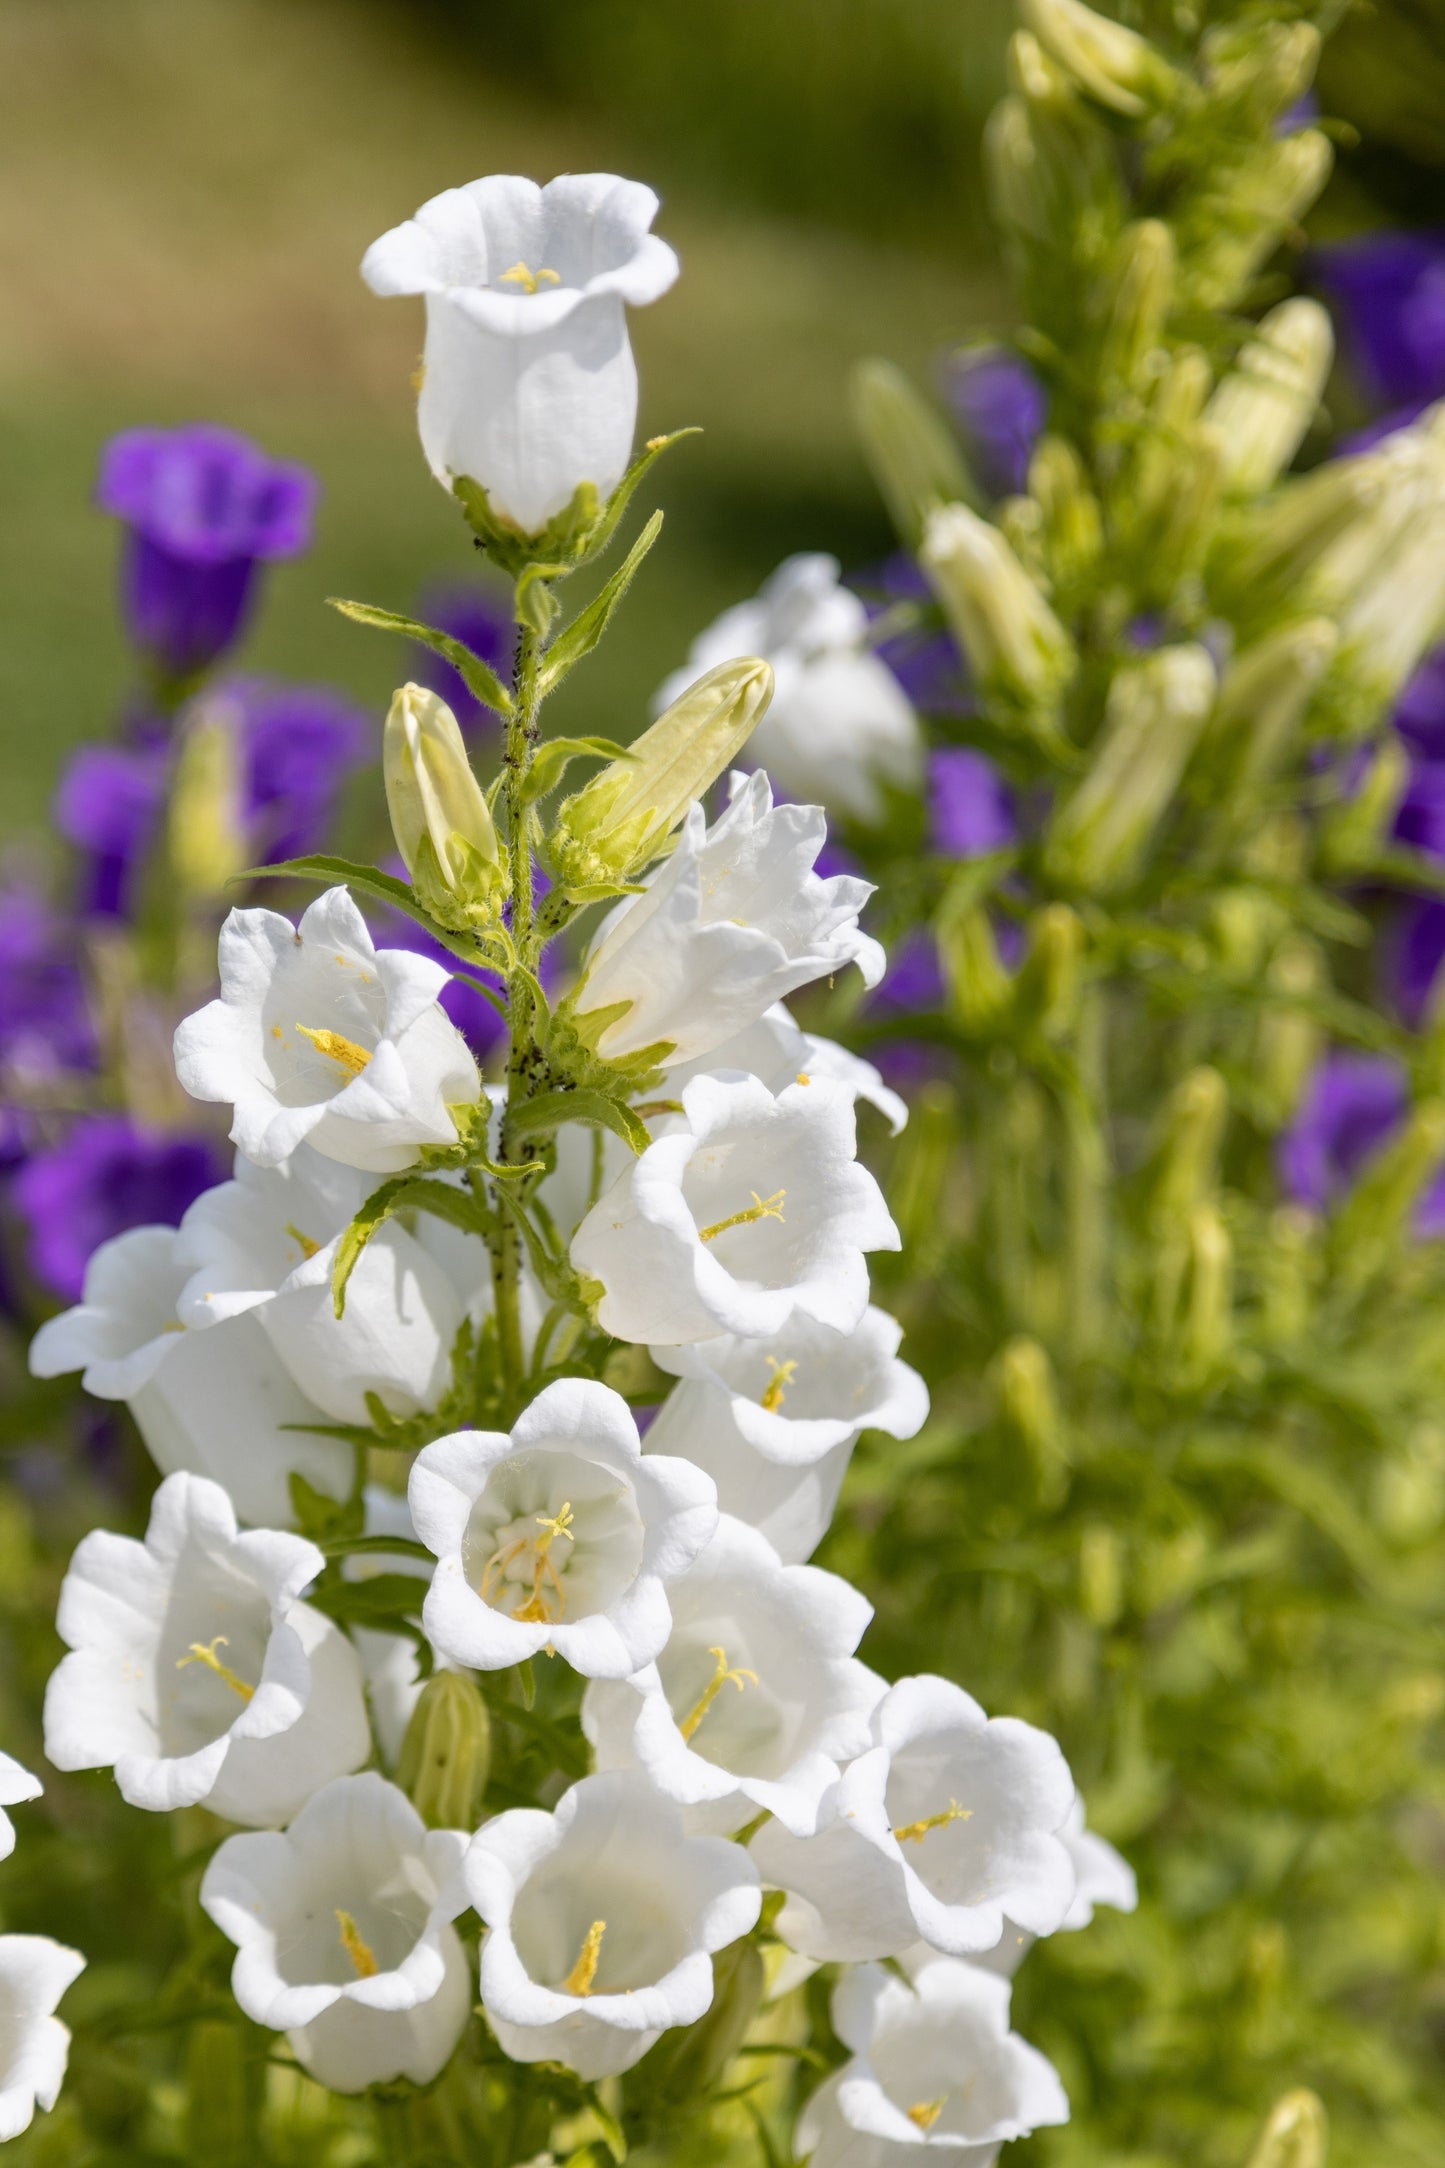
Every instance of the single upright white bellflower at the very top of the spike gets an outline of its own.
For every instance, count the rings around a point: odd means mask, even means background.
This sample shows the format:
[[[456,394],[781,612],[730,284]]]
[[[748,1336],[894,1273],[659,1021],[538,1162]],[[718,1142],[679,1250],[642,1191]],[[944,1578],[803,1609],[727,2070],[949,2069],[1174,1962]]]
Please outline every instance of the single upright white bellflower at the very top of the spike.
[[[637,425],[626,308],[656,301],[678,258],[648,232],[656,195],[615,173],[539,189],[490,173],[446,189],[375,241],[373,293],[427,297],[418,425],[431,473],[466,475],[537,533],[581,483],[607,499]]]

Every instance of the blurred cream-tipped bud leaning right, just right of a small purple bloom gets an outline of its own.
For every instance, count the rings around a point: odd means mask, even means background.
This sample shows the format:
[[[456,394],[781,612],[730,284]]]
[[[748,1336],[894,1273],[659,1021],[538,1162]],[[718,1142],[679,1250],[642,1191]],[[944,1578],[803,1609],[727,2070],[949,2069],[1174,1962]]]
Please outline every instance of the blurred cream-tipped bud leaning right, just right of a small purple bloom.
[[[1049,869],[1081,889],[1111,889],[1140,867],[1213,705],[1200,646],[1161,648],[1118,672],[1088,774],[1053,820]]]

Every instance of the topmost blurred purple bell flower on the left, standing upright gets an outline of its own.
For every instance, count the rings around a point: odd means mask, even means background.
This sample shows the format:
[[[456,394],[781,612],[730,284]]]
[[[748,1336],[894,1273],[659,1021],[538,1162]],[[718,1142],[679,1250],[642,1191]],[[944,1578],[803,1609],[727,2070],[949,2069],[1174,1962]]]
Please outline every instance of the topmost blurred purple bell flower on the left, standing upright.
[[[130,529],[132,640],[186,679],[240,635],[258,562],[308,546],[316,479],[210,423],[126,429],[106,444],[95,501]]]

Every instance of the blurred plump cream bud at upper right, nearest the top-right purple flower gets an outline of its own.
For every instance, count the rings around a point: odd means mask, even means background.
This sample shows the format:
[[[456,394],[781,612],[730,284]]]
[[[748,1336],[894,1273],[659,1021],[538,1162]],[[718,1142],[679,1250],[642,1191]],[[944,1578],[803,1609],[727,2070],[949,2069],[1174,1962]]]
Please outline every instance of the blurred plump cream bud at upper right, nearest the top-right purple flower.
[[[1319,410],[1335,332],[1319,301],[1283,301],[1224,377],[1207,421],[1224,447],[1224,488],[1257,496],[1285,473]]]

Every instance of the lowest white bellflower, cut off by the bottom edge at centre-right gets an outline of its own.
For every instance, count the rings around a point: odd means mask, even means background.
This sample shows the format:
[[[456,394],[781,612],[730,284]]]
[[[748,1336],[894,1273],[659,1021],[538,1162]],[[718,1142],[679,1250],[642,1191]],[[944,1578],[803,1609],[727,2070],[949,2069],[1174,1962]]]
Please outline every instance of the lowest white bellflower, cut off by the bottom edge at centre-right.
[[[832,1999],[845,2062],[804,2107],[797,2151],[812,2168],[990,2168],[999,2146],[1068,2122],[1059,2075],[1010,2031],[1010,1986],[958,1958],[914,1982],[877,1964],[845,1973]]]

